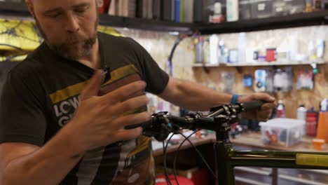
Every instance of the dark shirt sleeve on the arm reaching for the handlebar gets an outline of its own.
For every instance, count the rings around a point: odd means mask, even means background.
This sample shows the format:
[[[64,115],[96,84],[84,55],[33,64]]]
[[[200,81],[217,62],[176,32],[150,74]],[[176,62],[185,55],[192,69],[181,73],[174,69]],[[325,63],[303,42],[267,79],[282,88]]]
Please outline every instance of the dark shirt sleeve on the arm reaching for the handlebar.
[[[153,94],[160,94],[168,85],[168,74],[160,69],[153,57],[136,41],[126,38],[134,47],[135,54],[139,62],[139,70],[142,72],[142,78],[146,81],[146,91]]]

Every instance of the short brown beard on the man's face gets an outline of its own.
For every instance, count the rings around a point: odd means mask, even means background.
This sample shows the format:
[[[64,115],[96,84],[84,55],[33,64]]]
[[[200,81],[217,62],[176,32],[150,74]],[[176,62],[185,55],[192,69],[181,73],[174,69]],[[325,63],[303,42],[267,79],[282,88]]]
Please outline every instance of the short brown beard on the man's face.
[[[95,27],[93,33],[89,36],[82,36],[78,32],[69,33],[64,41],[50,41],[46,32],[42,29],[39,20],[34,16],[36,26],[39,29],[41,36],[53,52],[69,60],[81,60],[82,58],[90,55],[91,48],[97,40],[97,25],[99,22],[99,15],[97,14],[97,20],[95,21]]]

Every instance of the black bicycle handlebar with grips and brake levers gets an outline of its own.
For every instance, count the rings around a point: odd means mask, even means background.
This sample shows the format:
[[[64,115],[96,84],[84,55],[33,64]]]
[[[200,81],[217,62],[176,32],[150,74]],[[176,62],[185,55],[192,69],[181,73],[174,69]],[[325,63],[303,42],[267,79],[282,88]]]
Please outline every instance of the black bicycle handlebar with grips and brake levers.
[[[212,107],[207,115],[198,112],[183,117],[167,115],[168,112],[159,112],[153,114],[151,120],[137,125],[126,126],[125,129],[142,127],[144,129],[143,135],[155,137],[158,141],[163,141],[170,132],[175,132],[175,128],[219,130],[219,128],[228,126],[228,123],[237,122],[238,115],[243,111],[260,109],[263,104],[264,102],[261,100],[254,100],[245,103],[221,105]]]

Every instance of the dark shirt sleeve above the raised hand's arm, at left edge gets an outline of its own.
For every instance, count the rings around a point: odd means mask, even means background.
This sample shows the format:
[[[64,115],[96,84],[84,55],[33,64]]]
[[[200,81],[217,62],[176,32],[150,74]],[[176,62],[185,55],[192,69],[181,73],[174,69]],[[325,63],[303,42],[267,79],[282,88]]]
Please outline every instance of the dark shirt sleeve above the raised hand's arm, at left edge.
[[[26,72],[9,72],[0,99],[0,143],[43,145],[45,96],[38,81]]]

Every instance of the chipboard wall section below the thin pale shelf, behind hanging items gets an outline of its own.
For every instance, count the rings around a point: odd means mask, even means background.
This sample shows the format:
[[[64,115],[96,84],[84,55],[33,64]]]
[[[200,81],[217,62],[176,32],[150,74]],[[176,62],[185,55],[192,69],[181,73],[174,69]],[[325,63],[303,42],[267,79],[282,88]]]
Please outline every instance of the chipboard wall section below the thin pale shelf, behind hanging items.
[[[294,85],[293,90],[288,93],[277,92],[273,96],[277,100],[282,100],[286,106],[286,116],[288,118],[296,118],[296,109],[300,104],[304,104],[308,109],[315,107],[318,109],[320,101],[324,97],[328,97],[328,64],[322,64],[319,67],[320,73],[315,76],[315,88],[314,90],[296,90],[296,79],[299,69],[308,68],[312,69],[310,65],[293,66],[294,73]],[[253,93],[253,88],[245,88],[242,85],[242,78],[244,74],[251,74],[254,78],[254,71],[256,69],[265,69],[265,67],[241,67],[240,73],[234,67],[215,67],[210,68],[210,72],[207,74],[205,69],[197,67],[194,69],[194,76],[198,83],[204,83],[207,81],[212,84],[217,84],[217,89],[220,90],[222,86],[221,73],[229,71],[235,73],[235,93],[240,95],[247,95]],[[210,80],[208,79],[210,78]],[[209,84],[210,86],[213,86]]]

